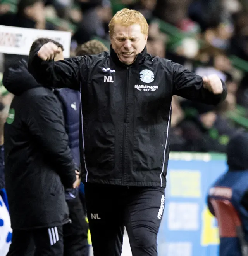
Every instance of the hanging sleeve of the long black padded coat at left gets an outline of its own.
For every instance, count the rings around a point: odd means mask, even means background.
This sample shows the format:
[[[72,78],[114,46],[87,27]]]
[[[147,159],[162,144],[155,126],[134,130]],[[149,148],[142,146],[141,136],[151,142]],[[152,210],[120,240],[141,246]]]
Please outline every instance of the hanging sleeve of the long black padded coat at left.
[[[33,97],[27,113],[28,128],[34,142],[55,166],[64,186],[72,188],[78,168],[68,146],[61,111],[55,95]]]

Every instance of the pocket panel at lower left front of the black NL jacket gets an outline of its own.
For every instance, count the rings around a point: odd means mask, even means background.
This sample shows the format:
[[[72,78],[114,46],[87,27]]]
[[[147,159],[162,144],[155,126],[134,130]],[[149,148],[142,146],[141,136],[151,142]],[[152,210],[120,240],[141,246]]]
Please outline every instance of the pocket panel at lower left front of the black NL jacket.
[[[84,154],[88,167],[112,170],[115,156],[114,125],[91,122],[84,135]]]

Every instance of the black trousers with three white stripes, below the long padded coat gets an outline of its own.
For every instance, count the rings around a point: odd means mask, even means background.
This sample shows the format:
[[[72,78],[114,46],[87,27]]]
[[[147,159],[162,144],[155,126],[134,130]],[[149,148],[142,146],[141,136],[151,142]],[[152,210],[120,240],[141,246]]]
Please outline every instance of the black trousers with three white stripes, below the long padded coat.
[[[33,244],[35,249],[32,249]],[[33,230],[14,229],[7,256],[63,256],[63,254],[63,228],[57,226]]]

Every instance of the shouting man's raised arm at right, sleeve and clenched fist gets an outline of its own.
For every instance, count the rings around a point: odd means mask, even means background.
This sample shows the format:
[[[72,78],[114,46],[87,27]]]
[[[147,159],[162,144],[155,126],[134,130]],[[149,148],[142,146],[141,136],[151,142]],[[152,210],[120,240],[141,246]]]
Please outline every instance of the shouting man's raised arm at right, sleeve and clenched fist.
[[[217,75],[201,77],[177,63],[172,63],[172,69],[174,95],[210,105],[225,100],[226,84]]]

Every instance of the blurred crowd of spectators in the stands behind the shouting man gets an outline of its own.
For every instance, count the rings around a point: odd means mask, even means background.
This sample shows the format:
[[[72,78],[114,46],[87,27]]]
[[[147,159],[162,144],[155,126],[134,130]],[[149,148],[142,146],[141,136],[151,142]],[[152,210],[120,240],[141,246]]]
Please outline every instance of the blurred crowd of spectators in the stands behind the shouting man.
[[[227,84],[217,107],[173,97],[171,150],[225,152],[231,135],[248,128],[248,0],[1,0],[0,25],[71,31],[74,56],[93,38],[109,47],[108,23],[124,7],[147,19],[148,53]],[[0,72],[20,58],[1,54]]]

